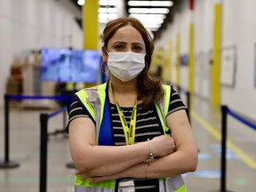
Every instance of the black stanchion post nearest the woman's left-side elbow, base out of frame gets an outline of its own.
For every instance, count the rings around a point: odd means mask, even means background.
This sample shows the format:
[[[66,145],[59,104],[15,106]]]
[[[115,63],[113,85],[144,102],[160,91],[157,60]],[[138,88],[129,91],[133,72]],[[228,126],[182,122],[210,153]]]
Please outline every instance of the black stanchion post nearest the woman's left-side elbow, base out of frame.
[[[40,190],[46,192],[47,189],[47,124],[48,115],[40,114]]]

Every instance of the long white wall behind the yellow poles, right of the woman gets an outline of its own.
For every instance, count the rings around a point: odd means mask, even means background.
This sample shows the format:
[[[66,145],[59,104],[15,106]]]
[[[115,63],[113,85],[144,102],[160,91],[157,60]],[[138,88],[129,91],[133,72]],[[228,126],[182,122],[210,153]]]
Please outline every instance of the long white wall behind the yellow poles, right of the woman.
[[[164,42],[172,41],[172,52],[175,51],[176,35],[180,33],[180,54],[188,54],[188,24],[194,20],[195,25],[195,76],[194,90],[199,96],[209,100],[211,95],[211,65],[213,44],[213,5],[215,0],[195,0],[193,15],[188,10],[188,0],[184,1],[180,12],[175,13],[174,20],[163,32],[162,39],[157,40],[157,47]],[[222,0],[221,46],[225,48],[236,45],[235,85],[220,84],[220,102],[227,104],[236,112],[256,119],[255,78],[255,44],[256,44],[256,1],[255,0]],[[221,63],[220,63],[221,65]],[[175,70],[175,69],[173,69]],[[188,86],[188,68],[180,70],[180,85]],[[175,71],[173,71],[175,74]],[[176,75],[175,75],[176,76]],[[174,82],[175,83],[175,82]]]

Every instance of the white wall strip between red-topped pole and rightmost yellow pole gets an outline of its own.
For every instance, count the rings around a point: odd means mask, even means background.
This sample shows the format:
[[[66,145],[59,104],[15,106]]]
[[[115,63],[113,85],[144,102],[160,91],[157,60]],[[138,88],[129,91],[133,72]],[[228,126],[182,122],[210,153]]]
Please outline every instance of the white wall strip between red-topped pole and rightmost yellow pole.
[[[195,1],[193,21],[195,25],[195,93],[210,100],[212,58],[212,0]]]

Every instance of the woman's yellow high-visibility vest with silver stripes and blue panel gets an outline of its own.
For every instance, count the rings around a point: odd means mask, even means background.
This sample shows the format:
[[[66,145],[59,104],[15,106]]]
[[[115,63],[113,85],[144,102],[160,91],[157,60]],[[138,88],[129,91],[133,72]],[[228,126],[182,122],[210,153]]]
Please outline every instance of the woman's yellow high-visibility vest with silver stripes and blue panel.
[[[107,83],[100,84],[99,86],[87,88],[76,92],[79,100],[82,101],[84,107],[91,114],[96,123],[97,132],[97,145],[112,146],[112,133],[110,126],[110,113],[108,108],[108,100],[106,94],[108,94]],[[171,97],[171,86],[163,85],[164,99],[161,103],[156,105],[156,111],[164,129],[164,134],[169,130],[165,126],[165,116],[167,116],[169,102]],[[164,118],[163,118],[164,117]],[[102,133],[103,132],[103,133]],[[102,136],[103,135],[103,136]],[[100,138],[104,137],[104,139]],[[109,138],[111,140],[109,140]],[[105,141],[105,139],[107,141]],[[80,180],[82,175],[76,175],[75,177],[75,192],[114,192],[116,187],[116,180],[100,181],[96,184],[90,185],[91,179]],[[186,186],[181,175],[159,179],[159,191],[160,192],[187,192]]]

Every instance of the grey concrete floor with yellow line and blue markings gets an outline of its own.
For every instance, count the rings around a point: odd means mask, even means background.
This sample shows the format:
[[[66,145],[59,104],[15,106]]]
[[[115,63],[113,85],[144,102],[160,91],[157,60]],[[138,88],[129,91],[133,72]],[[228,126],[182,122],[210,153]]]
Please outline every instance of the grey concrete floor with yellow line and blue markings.
[[[220,108],[210,108],[207,100],[191,100],[191,124],[198,146],[196,172],[184,174],[189,192],[220,191]],[[39,191],[41,113],[48,110],[10,109],[10,160],[18,168],[0,169],[1,192]],[[0,160],[4,161],[4,109],[0,109]],[[48,132],[63,129],[63,116],[53,116]],[[227,191],[256,191],[256,132],[228,117]],[[71,157],[67,135],[51,135],[48,140],[47,191],[71,192],[75,169],[68,168]]]

